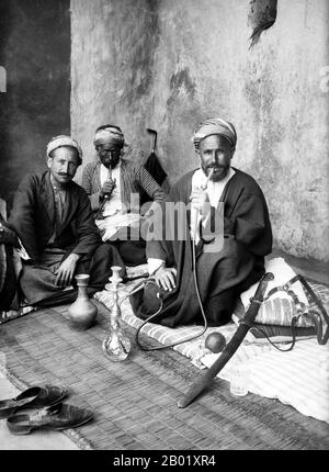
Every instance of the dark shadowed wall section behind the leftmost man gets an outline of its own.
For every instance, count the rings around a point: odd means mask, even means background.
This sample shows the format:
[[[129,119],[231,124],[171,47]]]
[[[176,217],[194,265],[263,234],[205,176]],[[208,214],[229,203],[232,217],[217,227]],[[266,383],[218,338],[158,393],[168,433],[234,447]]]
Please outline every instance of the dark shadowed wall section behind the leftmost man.
[[[70,132],[69,0],[1,0],[0,196],[46,169],[46,144]]]

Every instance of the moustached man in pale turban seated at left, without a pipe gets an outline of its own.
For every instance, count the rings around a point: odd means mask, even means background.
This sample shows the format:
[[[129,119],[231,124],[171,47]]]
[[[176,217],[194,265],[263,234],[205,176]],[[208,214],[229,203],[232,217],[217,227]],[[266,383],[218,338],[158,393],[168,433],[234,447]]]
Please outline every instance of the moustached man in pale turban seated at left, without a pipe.
[[[25,249],[20,286],[29,304],[73,301],[79,272],[90,274],[90,294],[102,290],[120,261],[102,243],[87,193],[72,181],[81,161],[79,144],[57,136],[47,146],[48,170],[26,176],[15,193],[8,225]]]

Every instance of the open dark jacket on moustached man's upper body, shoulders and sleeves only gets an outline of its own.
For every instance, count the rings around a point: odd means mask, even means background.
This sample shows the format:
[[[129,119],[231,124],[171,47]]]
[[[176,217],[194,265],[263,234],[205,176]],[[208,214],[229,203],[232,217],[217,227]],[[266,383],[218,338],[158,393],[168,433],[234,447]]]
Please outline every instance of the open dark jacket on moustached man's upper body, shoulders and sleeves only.
[[[9,226],[20,237],[33,261],[47,246],[55,226],[55,200],[49,171],[26,176],[15,193]],[[71,181],[63,224],[57,228],[55,246],[81,256],[91,256],[102,243],[84,190]]]

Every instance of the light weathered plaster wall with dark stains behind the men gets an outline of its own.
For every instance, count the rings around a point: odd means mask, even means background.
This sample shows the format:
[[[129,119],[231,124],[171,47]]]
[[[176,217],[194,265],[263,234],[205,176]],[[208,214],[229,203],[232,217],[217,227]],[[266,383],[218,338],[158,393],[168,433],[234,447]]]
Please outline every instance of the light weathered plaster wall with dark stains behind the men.
[[[329,260],[327,0],[279,0],[274,25],[249,48],[249,0],[71,0],[71,126],[120,124],[158,155],[170,180],[197,166],[191,136],[209,115],[235,123],[232,165],[268,200],[276,247]],[[322,81],[322,82],[321,82]]]

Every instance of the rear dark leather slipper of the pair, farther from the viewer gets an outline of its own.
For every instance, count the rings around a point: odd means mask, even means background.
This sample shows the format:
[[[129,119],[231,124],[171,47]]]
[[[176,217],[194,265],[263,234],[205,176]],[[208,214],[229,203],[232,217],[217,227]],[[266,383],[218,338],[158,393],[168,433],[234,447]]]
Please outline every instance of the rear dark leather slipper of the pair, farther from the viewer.
[[[64,386],[44,385],[32,386],[20,393],[15,398],[0,401],[0,418],[8,418],[10,415],[22,408],[42,408],[44,406],[59,403],[68,394],[68,389]]]

